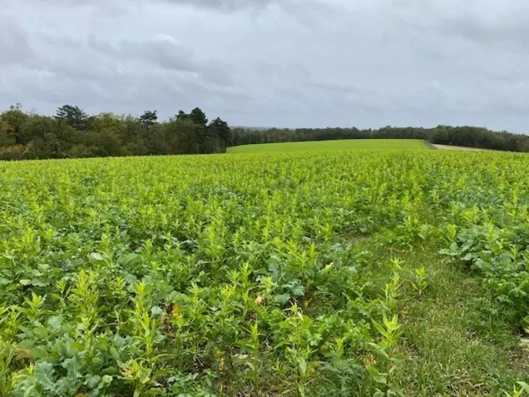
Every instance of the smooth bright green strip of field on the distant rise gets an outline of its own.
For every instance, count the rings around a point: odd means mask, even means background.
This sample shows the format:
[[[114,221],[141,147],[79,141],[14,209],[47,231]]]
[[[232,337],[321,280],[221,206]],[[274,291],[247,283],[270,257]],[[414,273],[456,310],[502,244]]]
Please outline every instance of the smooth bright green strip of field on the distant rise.
[[[426,150],[423,140],[404,139],[344,139],[314,142],[264,143],[229,147],[228,153],[273,153],[331,150]]]

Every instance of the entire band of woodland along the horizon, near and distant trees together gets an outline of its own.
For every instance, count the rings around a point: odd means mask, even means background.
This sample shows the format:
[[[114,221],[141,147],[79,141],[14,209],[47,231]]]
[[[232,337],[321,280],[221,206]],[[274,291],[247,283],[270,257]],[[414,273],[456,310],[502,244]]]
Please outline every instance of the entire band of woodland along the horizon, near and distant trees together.
[[[72,105],[61,106],[55,116],[23,111],[20,105],[0,113],[0,160],[193,155],[224,153],[229,146],[257,143],[383,138],[529,152],[528,135],[470,126],[231,129],[220,118],[208,122],[200,108],[179,111],[169,121],[159,121],[156,111],[145,111],[140,117],[89,116]]]

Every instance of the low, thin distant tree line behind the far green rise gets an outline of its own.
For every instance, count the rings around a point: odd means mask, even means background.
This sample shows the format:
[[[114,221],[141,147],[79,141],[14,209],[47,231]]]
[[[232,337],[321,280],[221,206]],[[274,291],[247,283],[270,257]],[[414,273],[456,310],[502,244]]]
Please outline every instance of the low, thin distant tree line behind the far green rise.
[[[489,150],[529,152],[529,135],[506,131],[492,131],[482,127],[438,125],[434,128],[383,127],[378,129],[358,128],[270,128],[254,130],[234,128],[232,145],[257,143],[301,142],[309,140],[336,139],[421,139],[440,145],[479,147]]]

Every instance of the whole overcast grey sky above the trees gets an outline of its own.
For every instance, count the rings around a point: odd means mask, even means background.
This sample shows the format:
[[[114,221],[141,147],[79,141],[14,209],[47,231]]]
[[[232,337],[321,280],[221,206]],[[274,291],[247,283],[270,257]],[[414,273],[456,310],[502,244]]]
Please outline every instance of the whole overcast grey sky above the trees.
[[[527,0],[0,0],[0,108],[529,131]]]

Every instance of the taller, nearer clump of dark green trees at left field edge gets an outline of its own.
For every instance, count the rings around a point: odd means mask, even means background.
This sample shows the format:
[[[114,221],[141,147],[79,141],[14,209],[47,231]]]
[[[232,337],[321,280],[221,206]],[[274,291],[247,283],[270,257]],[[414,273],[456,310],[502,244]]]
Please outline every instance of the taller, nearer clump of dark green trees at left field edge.
[[[156,111],[89,116],[72,105],[61,106],[55,116],[20,105],[0,113],[0,160],[223,153],[231,144],[229,125],[220,118],[208,123],[200,108],[164,122]]]

